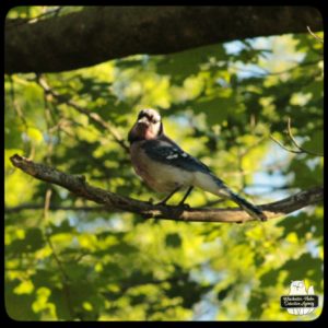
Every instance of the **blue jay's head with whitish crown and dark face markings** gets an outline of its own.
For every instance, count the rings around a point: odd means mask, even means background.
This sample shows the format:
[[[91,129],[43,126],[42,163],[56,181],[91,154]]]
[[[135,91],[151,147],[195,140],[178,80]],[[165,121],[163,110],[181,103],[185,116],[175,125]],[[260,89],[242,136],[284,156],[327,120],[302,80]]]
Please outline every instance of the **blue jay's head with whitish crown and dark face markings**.
[[[129,142],[156,139],[162,133],[163,124],[161,115],[155,109],[142,109],[129,132]]]

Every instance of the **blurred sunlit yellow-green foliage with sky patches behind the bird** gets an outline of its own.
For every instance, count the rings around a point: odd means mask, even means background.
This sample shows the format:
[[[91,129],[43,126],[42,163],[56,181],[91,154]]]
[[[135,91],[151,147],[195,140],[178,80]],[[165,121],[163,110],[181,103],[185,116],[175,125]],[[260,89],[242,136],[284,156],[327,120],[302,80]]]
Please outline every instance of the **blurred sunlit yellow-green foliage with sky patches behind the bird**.
[[[39,19],[79,8],[20,7],[9,17],[45,10],[51,13]],[[280,296],[291,280],[305,279],[323,302],[321,206],[265,224],[145,221],[38,181],[9,157],[83,174],[137,199],[161,198],[136,176],[122,147],[138,110],[154,107],[167,134],[234,190],[256,203],[279,200],[323,184],[323,51],[311,34],[282,35],[5,75],[8,314],[17,320],[317,317],[321,307],[290,315]],[[270,139],[294,148],[289,118],[300,145],[318,155],[288,152]],[[232,206],[201,190],[188,203]]]

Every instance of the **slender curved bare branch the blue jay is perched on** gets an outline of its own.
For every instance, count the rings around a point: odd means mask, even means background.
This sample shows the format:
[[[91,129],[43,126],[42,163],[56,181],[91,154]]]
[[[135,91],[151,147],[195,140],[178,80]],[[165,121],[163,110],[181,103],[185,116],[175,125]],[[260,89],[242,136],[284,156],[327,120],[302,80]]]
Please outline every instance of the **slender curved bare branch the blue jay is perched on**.
[[[140,214],[145,219],[153,218],[175,221],[237,223],[254,220],[245,211],[236,208],[186,209],[172,206],[154,206],[150,202],[139,201],[92,187],[85,181],[83,176],[69,175],[44,164],[28,161],[17,154],[10,157],[10,160],[15,167],[37,179],[61,186],[78,196],[101,203],[110,210],[116,209],[117,211],[132,212]],[[309,204],[315,204],[323,199],[324,188],[316,187],[301,191],[277,202],[259,206],[259,208],[265,212],[268,219],[273,219],[286,215]]]

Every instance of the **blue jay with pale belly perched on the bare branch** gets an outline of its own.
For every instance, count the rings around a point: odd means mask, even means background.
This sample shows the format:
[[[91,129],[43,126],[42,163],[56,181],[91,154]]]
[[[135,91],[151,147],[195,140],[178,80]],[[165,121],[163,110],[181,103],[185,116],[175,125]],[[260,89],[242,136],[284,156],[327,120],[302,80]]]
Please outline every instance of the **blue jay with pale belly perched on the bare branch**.
[[[183,151],[165,136],[160,114],[154,109],[139,113],[128,140],[136,173],[157,192],[168,192],[160,203],[178,190],[188,188],[179,204],[184,204],[194,187],[231,199],[253,218],[266,221],[260,209],[233,192],[207,165]]]

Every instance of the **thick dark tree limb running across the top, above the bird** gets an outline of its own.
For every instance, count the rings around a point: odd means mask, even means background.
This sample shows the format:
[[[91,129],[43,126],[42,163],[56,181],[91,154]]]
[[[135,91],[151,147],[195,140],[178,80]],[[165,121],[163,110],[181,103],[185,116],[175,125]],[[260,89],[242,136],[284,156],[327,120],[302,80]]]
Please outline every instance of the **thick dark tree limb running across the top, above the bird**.
[[[307,26],[323,31],[311,7],[89,7],[33,24],[9,21],[5,73],[73,70],[136,54],[306,33]]]

